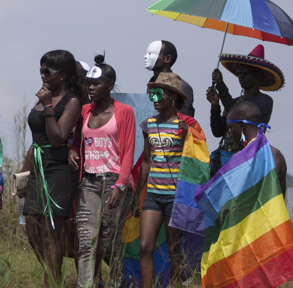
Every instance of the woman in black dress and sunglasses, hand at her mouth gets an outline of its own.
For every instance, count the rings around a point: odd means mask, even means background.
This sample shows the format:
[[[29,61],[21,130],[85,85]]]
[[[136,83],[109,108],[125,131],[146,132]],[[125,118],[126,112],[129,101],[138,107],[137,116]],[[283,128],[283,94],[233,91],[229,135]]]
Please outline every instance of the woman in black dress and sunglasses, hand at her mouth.
[[[44,267],[44,287],[50,287],[60,283],[60,232],[78,185],[78,175],[67,162],[67,140],[81,112],[81,87],[70,52],[47,52],[40,63],[43,86],[27,119],[33,144],[22,172],[31,172],[24,204],[27,236]]]

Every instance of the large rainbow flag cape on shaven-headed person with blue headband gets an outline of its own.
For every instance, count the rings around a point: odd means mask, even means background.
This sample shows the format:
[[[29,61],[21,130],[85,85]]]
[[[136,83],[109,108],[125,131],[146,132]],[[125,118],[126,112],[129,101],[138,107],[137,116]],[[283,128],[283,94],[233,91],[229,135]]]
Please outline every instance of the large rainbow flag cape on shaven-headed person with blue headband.
[[[276,287],[293,277],[292,227],[261,129],[195,199],[206,214],[203,288]]]

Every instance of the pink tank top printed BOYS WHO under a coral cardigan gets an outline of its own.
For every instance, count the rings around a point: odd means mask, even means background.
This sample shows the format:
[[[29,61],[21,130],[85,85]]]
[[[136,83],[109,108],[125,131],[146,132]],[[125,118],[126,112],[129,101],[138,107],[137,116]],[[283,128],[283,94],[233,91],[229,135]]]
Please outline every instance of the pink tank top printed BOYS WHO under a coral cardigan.
[[[89,114],[90,116],[90,114]],[[115,114],[102,127],[89,128],[89,116],[82,127],[85,144],[84,171],[88,173],[120,172]]]

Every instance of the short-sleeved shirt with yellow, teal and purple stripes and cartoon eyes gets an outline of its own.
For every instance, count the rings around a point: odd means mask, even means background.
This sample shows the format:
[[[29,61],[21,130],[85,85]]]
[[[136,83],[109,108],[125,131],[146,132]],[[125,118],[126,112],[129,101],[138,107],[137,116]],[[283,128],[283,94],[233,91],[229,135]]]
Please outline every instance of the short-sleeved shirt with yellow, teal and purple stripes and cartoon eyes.
[[[148,134],[150,144],[151,163],[147,192],[175,194],[184,144],[180,136],[175,136],[178,121],[179,119],[175,118],[162,123],[156,115],[150,116],[140,124],[143,132]]]

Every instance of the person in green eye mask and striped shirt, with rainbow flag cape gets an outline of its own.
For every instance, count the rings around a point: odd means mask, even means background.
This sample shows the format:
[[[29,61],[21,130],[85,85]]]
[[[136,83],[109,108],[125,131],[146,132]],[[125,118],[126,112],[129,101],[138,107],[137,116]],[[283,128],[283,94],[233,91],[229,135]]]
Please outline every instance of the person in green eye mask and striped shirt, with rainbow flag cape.
[[[188,210],[188,203],[182,203],[182,199],[197,205],[193,198],[195,190],[190,193],[189,184],[196,183],[199,187],[209,179],[209,154],[201,126],[194,118],[177,111],[187,99],[182,91],[180,76],[160,73],[156,81],[147,86],[150,88],[150,101],[154,102],[159,114],[148,117],[140,124],[144,152],[135,194],[136,207],[132,209],[134,217],[141,216],[140,230],[128,226],[128,222],[135,222],[128,219],[124,229],[132,230],[128,236],[131,240],[124,235],[121,237],[126,243],[125,281],[129,284],[128,279],[132,276],[132,279],[136,278],[135,285],[139,287],[141,281],[144,288],[153,285],[165,287],[170,282],[177,284],[183,274],[188,275],[181,269],[188,258],[184,256],[190,255],[190,261],[194,263],[196,254],[190,249],[186,252],[183,246],[187,242],[192,243],[189,247],[193,248],[195,244],[203,244],[203,231],[194,234],[199,237],[194,243],[194,238],[183,235],[182,229],[192,230],[190,224],[195,221],[201,223],[204,215],[199,207],[199,213]],[[147,191],[143,189],[146,183]],[[147,193],[140,213],[138,197],[142,190]],[[182,197],[183,192],[185,196]],[[178,223],[183,227],[177,226]],[[140,249],[137,249],[138,244]],[[188,264],[191,264],[190,261]],[[192,270],[194,265],[190,267]]]

